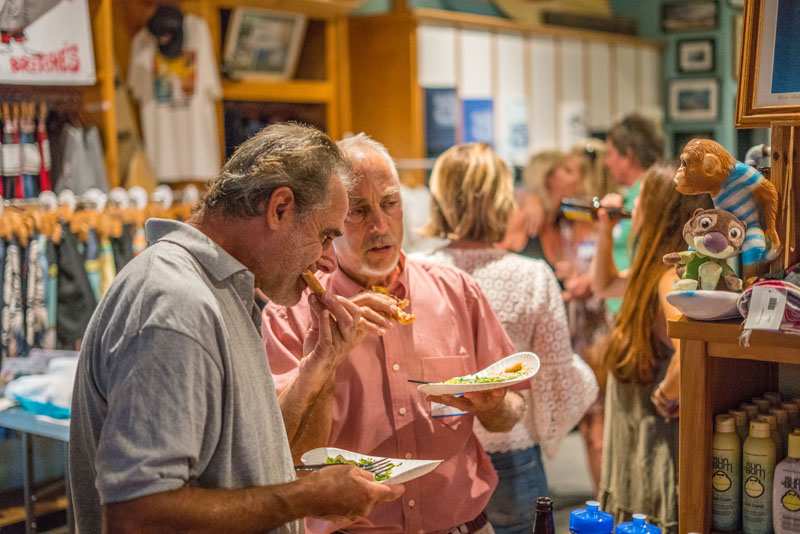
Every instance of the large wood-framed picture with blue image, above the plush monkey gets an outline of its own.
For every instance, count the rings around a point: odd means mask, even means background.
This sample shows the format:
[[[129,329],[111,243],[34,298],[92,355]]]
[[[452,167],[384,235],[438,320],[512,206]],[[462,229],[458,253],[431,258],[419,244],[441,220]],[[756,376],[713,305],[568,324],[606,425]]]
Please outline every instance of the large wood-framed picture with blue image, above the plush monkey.
[[[800,9],[793,0],[745,3],[736,126],[768,127],[800,117]]]

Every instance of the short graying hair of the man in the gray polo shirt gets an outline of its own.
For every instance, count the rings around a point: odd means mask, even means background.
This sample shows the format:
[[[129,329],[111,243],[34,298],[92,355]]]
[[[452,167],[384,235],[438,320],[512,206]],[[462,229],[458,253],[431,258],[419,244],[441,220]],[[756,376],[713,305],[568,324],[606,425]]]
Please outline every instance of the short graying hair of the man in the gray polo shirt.
[[[265,201],[279,187],[294,193],[299,215],[326,201],[333,174],[349,177],[347,163],[333,140],[310,126],[267,126],[242,143],[209,183],[201,213],[231,217],[262,215]]]

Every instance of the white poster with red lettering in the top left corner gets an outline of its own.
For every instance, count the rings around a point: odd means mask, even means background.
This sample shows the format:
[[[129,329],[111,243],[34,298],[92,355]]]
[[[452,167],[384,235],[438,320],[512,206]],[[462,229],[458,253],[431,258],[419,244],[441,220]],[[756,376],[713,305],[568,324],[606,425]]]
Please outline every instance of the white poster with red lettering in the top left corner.
[[[0,84],[94,83],[87,0],[0,0]]]

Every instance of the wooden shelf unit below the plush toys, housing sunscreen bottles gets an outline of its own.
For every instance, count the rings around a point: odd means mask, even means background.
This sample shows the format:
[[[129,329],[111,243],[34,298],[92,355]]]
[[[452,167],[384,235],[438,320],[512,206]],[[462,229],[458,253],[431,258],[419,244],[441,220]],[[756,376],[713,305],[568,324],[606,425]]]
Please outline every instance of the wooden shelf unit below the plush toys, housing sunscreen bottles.
[[[710,532],[713,418],[778,389],[778,365],[800,364],[800,336],[754,331],[739,345],[740,322],[671,321],[680,339],[679,532]]]

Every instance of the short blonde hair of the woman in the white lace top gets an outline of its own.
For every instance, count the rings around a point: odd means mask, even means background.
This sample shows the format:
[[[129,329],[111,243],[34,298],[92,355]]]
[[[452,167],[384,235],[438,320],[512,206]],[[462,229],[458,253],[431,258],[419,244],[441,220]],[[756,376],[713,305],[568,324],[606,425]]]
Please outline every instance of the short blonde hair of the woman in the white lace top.
[[[431,237],[497,243],[515,207],[508,165],[489,145],[449,148],[436,160],[430,180]]]

